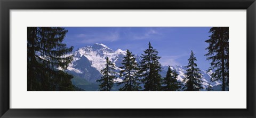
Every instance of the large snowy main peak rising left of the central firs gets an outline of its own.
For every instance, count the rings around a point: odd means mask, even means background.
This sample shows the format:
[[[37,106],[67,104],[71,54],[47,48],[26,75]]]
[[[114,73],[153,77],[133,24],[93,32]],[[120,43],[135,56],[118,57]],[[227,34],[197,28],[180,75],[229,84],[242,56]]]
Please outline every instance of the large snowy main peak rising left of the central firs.
[[[73,75],[79,76],[81,78],[84,78],[85,80],[95,83],[97,79],[100,79],[99,76],[102,76],[100,70],[105,68],[107,57],[111,62],[114,63],[116,71],[121,70],[121,68],[119,67],[122,66],[122,60],[123,57],[126,55],[126,51],[123,51],[121,49],[117,49],[116,51],[114,51],[104,44],[95,43],[92,46],[86,46],[77,49],[73,53],[73,55],[74,61],[69,65],[67,70]],[[82,58],[84,59],[81,60]],[[98,72],[96,72],[94,69]],[[93,74],[94,76],[95,74],[98,75],[97,77],[93,78],[92,76],[90,76]],[[115,81],[122,81],[122,79],[117,78],[115,79]]]

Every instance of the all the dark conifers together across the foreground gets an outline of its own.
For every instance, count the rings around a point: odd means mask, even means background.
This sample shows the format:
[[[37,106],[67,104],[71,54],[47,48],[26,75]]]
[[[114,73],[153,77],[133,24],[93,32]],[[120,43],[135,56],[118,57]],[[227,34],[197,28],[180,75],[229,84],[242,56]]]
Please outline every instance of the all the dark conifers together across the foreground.
[[[74,47],[63,43],[68,30],[60,27],[28,27],[27,28],[27,90],[28,91],[78,91],[84,90],[71,83],[73,75],[67,67],[73,61],[70,53]],[[209,45],[205,50],[206,60],[210,61],[207,71],[211,73],[211,81],[221,81],[221,90],[229,86],[229,28],[212,27],[209,31]],[[126,56],[115,71],[115,63],[106,57],[106,65],[97,80],[101,91],[112,90],[114,84],[120,86],[119,91],[199,91],[202,90],[201,69],[197,66],[196,53],[190,50],[187,59],[186,73],[183,81],[178,81],[178,73],[170,66],[166,76],[162,77],[162,67],[157,49],[148,42],[147,49],[136,61],[134,54],[127,49]],[[114,79],[123,78],[116,82]],[[212,86],[206,88],[212,90]]]

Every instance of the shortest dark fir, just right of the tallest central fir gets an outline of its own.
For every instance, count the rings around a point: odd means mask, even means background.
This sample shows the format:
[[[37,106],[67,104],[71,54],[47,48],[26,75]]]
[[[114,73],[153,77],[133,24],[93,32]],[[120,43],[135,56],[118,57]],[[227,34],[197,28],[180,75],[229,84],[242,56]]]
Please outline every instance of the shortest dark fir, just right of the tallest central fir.
[[[167,70],[166,77],[162,82],[162,90],[164,91],[177,91],[181,88],[181,83],[177,81],[177,72],[175,70],[171,70],[170,66]]]

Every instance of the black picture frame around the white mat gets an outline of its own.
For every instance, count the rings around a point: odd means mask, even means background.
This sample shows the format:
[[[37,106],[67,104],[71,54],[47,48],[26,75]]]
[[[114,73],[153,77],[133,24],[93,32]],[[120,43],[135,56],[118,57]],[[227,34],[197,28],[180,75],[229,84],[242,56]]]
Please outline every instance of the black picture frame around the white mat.
[[[1,117],[255,117],[255,0],[0,0]],[[246,109],[12,109],[10,108],[10,10],[185,9],[246,10]],[[235,103],[234,103],[235,104]]]

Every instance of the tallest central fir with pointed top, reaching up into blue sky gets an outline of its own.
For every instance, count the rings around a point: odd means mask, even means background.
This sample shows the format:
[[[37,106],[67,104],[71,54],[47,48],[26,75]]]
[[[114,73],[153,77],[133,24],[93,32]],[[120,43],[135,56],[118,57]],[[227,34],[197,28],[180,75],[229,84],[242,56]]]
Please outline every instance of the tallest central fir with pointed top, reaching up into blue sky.
[[[146,91],[156,91],[161,90],[161,64],[158,59],[158,51],[153,49],[150,42],[148,44],[148,49],[144,51],[145,54],[141,56],[140,62],[140,77],[144,84],[144,90]]]

